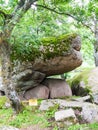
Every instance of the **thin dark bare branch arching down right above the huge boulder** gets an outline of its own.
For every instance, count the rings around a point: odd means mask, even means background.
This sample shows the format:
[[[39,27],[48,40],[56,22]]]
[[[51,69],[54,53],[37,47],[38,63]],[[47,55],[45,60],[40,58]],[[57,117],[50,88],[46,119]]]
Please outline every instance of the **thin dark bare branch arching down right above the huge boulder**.
[[[39,5],[39,4],[34,4],[35,6],[38,6],[38,7],[41,7],[41,8],[44,8],[44,9],[47,9],[47,10],[50,10],[54,13],[57,13],[57,14],[60,14],[60,15],[66,15],[68,17],[71,17],[73,18],[74,20],[80,22],[83,26],[87,27],[88,29],[91,30],[92,33],[94,33],[94,30],[88,25],[88,24],[85,24],[83,21],[79,20],[77,17],[71,15],[70,13],[66,13],[66,12],[58,12],[56,11],[55,9],[52,9],[50,7],[47,7],[47,6],[44,6],[44,5]]]

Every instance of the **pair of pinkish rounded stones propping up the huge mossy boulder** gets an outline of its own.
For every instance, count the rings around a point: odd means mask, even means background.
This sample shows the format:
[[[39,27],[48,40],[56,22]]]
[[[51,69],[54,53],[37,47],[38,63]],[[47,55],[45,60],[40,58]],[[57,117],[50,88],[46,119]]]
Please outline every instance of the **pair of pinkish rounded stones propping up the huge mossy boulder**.
[[[31,88],[24,94],[20,93],[21,99],[54,99],[72,96],[70,86],[62,79],[46,78],[42,84]]]

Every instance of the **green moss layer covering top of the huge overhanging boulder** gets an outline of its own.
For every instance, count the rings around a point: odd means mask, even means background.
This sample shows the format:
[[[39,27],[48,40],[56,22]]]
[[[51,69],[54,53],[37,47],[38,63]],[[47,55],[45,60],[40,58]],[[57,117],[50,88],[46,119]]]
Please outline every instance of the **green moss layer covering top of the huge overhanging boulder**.
[[[43,60],[50,59],[55,56],[65,56],[70,54],[72,40],[77,34],[66,34],[58,37],[48,37],[40,39],[39,43],[31,43],[25,45],[13,45],[12,60],[20,59],[22,61],[33,61],[36,58]]]

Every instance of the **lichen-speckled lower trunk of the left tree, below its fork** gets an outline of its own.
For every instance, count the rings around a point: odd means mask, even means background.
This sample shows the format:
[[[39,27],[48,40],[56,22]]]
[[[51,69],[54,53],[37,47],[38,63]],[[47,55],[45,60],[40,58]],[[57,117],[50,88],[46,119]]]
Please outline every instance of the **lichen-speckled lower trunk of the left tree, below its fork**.
[[[3,42],[0,44],[0,58],[2,67],[3,88],[7,97],[12,101],[16,112],[21,110],[21,103],[15,91],[15,84],[12,80],[12,64],[10,60],[10,46]]]

